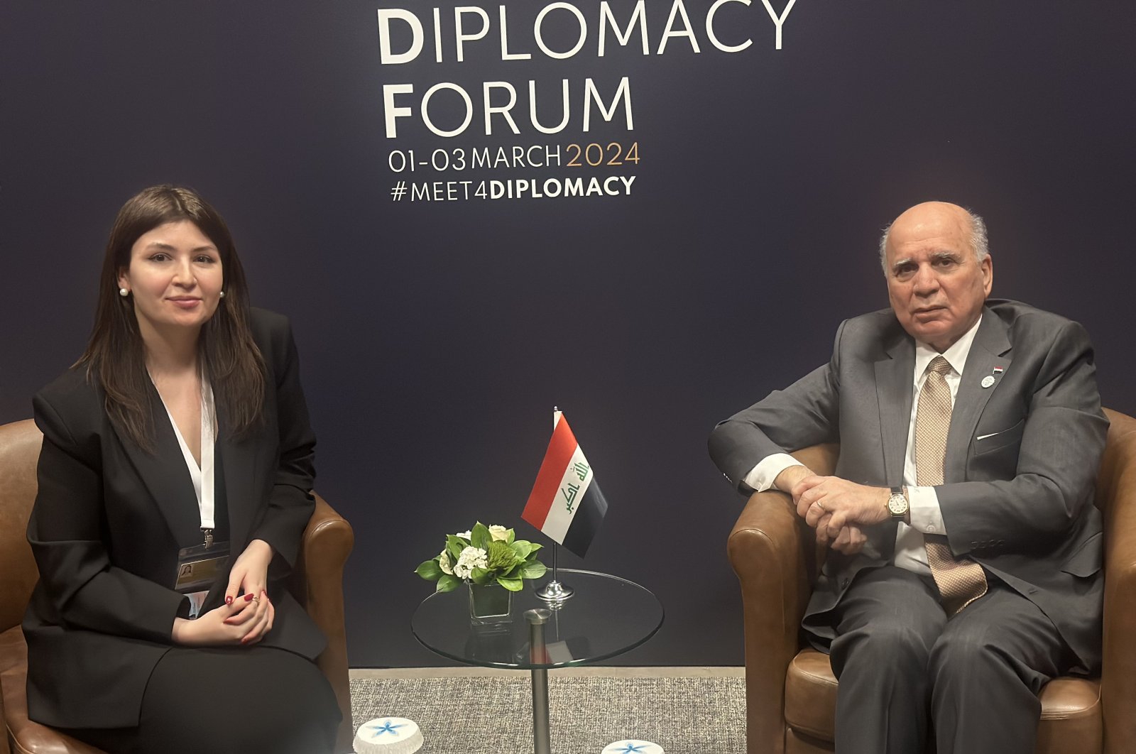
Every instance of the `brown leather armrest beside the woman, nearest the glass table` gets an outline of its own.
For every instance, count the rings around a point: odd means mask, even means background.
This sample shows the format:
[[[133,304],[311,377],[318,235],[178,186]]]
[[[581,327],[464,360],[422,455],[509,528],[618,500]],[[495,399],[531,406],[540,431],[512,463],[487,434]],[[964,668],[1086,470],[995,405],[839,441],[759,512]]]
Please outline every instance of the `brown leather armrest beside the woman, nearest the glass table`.
[[[350,752],[354,728],[351,721],[351,684],[348,678],[348,642],[343,620],[343,566],[354,546],[351,525],[319,495],[316,510],[308,521],[301,541],[298,575],[293,593],[308,614],[327,637],[327,648],[316,659],[316,664],[339,699],[343,721],[340,723],[335,751]]]

